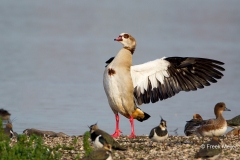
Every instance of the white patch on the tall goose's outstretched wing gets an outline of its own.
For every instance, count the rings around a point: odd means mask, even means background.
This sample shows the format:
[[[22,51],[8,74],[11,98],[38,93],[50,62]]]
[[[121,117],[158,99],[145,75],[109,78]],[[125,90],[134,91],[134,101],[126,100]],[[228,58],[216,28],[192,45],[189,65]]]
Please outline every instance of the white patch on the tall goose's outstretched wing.
[[[158,87],[158,81],[164,84],[164,77],[169,77],[167,72],[170,63],[164,58],[156,59],[144,64],[131,67],[131,76],[134,88],[137,87],[141,93],[148,90],[149,81],[152,88]]]

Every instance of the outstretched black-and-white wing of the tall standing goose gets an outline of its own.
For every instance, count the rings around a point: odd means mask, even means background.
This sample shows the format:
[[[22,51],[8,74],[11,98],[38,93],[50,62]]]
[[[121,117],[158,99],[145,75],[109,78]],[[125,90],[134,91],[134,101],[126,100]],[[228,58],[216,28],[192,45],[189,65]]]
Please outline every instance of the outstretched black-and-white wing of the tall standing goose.
[[[194,57],[168,57],[131,67],[138,103],[155,103],[180,91],[194,91],[222,78],[223,62]]]

